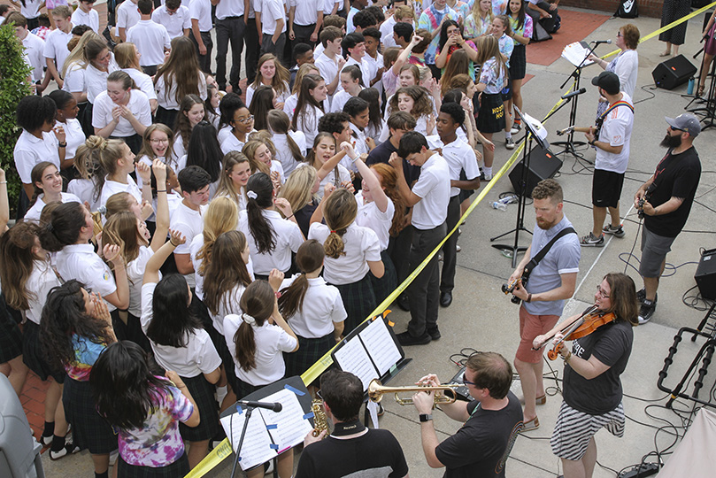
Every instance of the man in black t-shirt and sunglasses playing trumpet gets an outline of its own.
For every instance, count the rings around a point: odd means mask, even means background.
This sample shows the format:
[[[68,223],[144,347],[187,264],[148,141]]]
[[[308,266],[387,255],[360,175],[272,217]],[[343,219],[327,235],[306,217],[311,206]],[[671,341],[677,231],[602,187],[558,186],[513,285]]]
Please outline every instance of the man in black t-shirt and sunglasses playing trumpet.
[[[504,477],[504,464],[522,428],[520,400],[510,391],[512,366],[495,352],[478,352],[467,359],[463,382],[472,402],[440,405],[452,420],[465,425],[453,436],[438,443],[433,425],[435,390],[412,397],[420,413],[420,436],[427,465],[445,466],[445,478]],[[424,376],[419,385],[440,386],[435,374]]]

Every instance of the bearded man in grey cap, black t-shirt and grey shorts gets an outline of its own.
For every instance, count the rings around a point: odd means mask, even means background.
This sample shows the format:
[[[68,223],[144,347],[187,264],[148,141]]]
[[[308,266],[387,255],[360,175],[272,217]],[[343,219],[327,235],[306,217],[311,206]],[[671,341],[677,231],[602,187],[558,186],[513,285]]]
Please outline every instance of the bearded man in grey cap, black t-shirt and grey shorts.
[[[701,132],[696,116],[683,113],[665,120],[668,127],[661,146],[668,149],[666,156],[634,195],[634,204],[644,217],[639,266],[644,288],[636,293],[641,302],[640,324],[651,320],[657,307],[658,278],[666,266],[666,253],[689,219],[701,178],[701,161],[693,146]]]

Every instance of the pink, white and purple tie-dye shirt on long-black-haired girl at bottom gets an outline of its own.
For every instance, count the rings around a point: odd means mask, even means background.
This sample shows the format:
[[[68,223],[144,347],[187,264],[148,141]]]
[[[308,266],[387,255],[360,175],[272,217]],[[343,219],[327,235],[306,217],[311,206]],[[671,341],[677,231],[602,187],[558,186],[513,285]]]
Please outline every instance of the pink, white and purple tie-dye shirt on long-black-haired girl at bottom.
[[[141,428],[119,430],[119,455],[129,465],[160,468],[171,465],[184,453],[179,422],[194,412],[189,398],[173,385],[155,390],[155,409]]]

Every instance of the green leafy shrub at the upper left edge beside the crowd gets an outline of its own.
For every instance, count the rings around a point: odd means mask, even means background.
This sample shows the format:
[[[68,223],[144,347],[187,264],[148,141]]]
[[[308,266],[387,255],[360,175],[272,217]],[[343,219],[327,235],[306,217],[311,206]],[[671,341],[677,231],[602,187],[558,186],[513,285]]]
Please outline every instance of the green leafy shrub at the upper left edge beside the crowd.
[[[25,63],[24,51],[25,47],[15,36],[15,28],[4,23],[0,27],[0,167],[7,176],[11,216],[22,188],[12,156],[21,133],[15,122],[15,109],[20,99],[33,94],[27,82],[32,70]]]

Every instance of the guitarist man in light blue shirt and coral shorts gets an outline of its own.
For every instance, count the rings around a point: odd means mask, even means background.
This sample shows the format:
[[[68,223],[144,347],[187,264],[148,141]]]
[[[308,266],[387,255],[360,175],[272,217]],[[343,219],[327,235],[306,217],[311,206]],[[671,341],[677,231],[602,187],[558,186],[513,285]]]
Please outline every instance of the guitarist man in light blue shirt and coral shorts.
[[[540,426],[535,405],[547,401],[542,379],[542,351],[533,350],[532,342],[537,335],[547,333],[557,324],[565,299],[574,294],[581,254],[579,237],[562,211],[563,194],[558,182],[540,181],[532,191],[532,198],[537,227],[525,257],[510,276],[510,282],[516,284],[512,294],[522,300],[520,345],[514,359],[525,397],[522,431]],[[538,262],[536,266],[535,262]],[[529,280],[522,284],[526,268]]]

